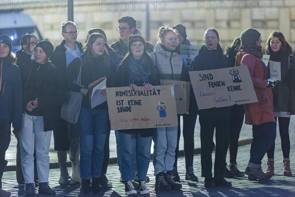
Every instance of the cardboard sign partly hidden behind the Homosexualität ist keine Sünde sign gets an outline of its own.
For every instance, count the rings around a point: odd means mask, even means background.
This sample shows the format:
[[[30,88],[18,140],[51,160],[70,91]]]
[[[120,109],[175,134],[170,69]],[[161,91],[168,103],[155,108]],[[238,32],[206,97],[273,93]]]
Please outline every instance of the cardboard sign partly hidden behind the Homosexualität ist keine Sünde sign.
[[[161,85],[173,85],[177,114],[188,114],[190,82],[161,79]]]

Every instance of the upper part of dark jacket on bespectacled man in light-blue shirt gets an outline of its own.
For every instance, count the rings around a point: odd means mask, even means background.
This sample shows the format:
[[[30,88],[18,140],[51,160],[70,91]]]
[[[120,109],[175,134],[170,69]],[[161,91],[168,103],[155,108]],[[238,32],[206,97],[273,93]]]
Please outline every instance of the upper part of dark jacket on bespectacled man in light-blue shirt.
[[[65,52],[66,48],[64,46],[65,40],[62,40],[59,46],[55,48],[53,51],[53,54],[50,56],[49,60],[56,66],[61,69],[62,72],[65,72],[66,70],[66,57],[65,57]],[[83,45],[81,42],[76,41],[77,46],[79,47],[79,50],[81,53],[83,52]]]

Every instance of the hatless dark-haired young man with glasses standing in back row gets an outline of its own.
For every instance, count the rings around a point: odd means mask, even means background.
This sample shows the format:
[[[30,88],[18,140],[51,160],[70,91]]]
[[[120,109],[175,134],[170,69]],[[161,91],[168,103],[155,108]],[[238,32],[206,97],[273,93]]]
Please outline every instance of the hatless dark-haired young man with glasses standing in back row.
[[[118,19],[119,40],[114,42],[111,47],[116,51],[119,62],[125,57],[128,52],[128,37],[131,34],[140,34],[140,31],[136,29],[136,20],[131,16],[122,16]],[[153,52],[153,45],[146,41],[146,50],[148,53]]]

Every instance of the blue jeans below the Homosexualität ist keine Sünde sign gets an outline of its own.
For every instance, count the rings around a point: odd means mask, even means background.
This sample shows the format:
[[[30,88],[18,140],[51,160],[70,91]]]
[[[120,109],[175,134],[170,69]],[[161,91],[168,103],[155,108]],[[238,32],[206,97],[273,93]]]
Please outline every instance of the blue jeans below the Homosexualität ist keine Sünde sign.
[[[145,180],[150,161],[150,146],[152,136],[141,137],[140,134],[118,132],[121,148],[122,180],[130,181],[134,178],[134,169],[137,168],[138,180]],[[137,167],[135,167],[137,165]]]

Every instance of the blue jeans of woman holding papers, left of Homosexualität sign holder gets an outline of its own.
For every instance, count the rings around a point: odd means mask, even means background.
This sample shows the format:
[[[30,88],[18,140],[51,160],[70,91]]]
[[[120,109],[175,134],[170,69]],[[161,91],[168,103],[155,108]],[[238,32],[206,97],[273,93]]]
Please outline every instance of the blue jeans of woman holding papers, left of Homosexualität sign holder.
[[[82,107],[78,125],[81,132],[81,178],[100,177],[104,158],[104,144],[109,126],[108,110]]]

